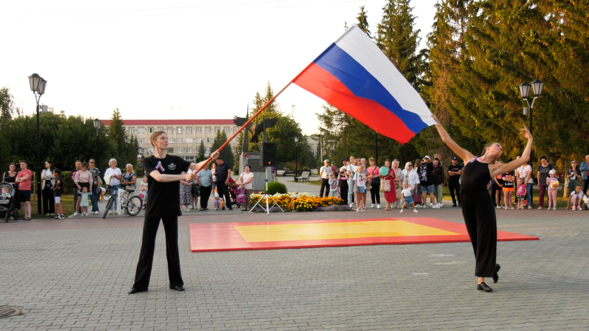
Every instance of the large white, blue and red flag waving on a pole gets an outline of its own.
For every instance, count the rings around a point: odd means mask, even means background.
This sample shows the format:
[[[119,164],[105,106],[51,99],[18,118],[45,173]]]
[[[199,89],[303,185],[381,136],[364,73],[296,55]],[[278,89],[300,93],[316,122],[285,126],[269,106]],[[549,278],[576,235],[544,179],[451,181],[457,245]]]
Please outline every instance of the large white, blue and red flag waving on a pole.
[[[358,25],[293,82],[402,144],[435,124],[419,93]]]

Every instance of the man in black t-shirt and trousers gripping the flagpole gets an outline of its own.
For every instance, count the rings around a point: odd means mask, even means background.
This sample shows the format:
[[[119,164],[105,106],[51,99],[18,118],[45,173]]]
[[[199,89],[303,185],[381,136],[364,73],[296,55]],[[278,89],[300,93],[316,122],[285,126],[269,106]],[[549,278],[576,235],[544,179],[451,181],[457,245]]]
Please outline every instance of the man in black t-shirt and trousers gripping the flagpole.
[[[168,276],[170,289],[183,291],[184,281],[180,273],[180,254],[178,253],[178,216],[180,211],[180,180],[193,181],[197,171],[182,174],[189,168],[197,170],[209,164],[209,160],[201,163],[186,161],[176,155],[167,155],[168,135],[164,131],[151,134],[151,145],[155,152],[151,157],[144,158],[143,168],[147,177],[149,195],[145,207],[143,223],[143,239],[141,240],[141,254],[137,263],[135,283],[129,294],[147,291],[153,265],[155,250],[155,236],[160,227],[160,220],[166,231],[166,255],[168,259]],[[211,154],[211,158],[219,157],[219,152]]]

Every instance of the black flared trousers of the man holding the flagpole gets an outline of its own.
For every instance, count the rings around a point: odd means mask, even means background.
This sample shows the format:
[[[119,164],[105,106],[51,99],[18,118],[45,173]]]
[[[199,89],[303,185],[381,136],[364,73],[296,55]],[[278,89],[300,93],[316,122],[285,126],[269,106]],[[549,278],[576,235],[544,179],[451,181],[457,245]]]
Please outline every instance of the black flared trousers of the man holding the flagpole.
[[[180,254],[178,253],[178,216],[171,217],[145,217],[143,223],[143,239],[141,240],[141,254],[135,273],[135,284],[138,290],[147,290],[153,266],[153,253],[155,250],[155,236],[160,227],[160,219],[164,223],[166,231],[166,256],[168,258],[168,276],[170,287],[183,286],[180,273]]]

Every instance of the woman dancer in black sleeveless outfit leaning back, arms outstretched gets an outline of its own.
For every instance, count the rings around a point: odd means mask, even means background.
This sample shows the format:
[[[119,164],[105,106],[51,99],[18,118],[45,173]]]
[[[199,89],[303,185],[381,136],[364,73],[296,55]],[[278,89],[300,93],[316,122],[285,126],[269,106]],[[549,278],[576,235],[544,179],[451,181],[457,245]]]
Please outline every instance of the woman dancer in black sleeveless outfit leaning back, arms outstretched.
[[[475,251],[477,289],[492,292],[493,289],[485,284],[485,277],[492,277],[493,282],[497,283],[499,280],[497,272],[501,266],[495,263],[497,257],[497,217],[495,217],[495,207],[491,196],[489,196],[487,184],[491,178],[514,171],[528,161],[532,149],[532,135],[524,125],[524,128],[519,131],[524,138],[527,138],[528,144],[525,145],[521,158],[507,164],[493,164],[493,161],[501,157],[503,152],[499,143],[487,144],[484,150],[485,154],[475,157],[450,138],[435,115],[432,114],[432,117],[436,121],[436,128],[442,141],[464,161],[461,184],[462,216],[464,216],[466,230],[468,236],[471,237],[472,248]]]

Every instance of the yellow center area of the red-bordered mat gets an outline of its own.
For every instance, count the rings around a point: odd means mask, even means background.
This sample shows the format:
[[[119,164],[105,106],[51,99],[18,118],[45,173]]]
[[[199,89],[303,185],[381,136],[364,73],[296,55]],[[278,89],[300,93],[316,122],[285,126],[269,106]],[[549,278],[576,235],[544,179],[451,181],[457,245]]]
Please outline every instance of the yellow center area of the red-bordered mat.
[[[235,228],[249,242],[459,234],[402,220],[246,225]]]

